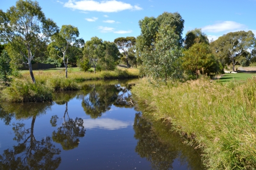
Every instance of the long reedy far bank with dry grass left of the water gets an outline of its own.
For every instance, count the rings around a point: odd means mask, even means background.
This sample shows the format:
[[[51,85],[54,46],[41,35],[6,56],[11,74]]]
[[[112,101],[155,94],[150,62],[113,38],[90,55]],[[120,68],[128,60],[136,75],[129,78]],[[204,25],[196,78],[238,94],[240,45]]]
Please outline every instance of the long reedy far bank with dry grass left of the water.
[[[10,102],[43,102],[51,101],[53,91],[79,90],[78,82],[97,79],[128,79],[138,78],[138,69],[116,69],[115,71],[100,71],[94,73],[72,71],[35,71],[36,84],[33,84],[29,73],[23,73],[15,78],[11,85],[2,91],[1,99]]]

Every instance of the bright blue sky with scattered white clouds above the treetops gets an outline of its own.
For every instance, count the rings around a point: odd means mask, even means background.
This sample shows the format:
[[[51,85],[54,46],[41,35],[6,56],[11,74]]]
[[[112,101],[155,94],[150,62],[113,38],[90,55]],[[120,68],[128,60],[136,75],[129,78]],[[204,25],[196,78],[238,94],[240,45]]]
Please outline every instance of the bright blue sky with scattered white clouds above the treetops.
[[[85,41],[97,36],[113,42],[118,37],[140,35],[139,20],[163,12],[180,13],[186,32],[201,28],[208,39],[228,32],[253,31],[256,35],[256,0],[37,0],[45,16],[79,29]],[[16,0],[0,0],[6,12]]]

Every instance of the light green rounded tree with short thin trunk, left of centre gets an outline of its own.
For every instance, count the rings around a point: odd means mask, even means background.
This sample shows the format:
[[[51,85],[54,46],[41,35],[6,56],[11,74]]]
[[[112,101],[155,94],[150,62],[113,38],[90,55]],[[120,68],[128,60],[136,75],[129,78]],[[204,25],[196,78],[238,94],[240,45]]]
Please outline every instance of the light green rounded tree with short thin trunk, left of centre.
[[[84,58],[89,60],[91,67],[94,68],[94,73],[96,73],[96,66],[99,64],[99,60],[105,56],[104,51],[103,41],[98,37],[91,37],[91,40],[86,41],[84,44]]]

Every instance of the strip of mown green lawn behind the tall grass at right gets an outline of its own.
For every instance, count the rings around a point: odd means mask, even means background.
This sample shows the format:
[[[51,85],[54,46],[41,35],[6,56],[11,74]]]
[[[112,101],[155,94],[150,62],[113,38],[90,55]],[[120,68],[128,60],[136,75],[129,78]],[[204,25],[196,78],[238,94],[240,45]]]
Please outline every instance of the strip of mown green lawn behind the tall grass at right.
[[[252,74],[252,73],[237,73],[237,74],[226,73],[226,74],[224,74],[224,76],[222,76],[218,80],[218,82],[229,82],[233,79],[235,79],[235,80],[246,80],[248,78],[252,78],[252,76],[256,76],[256,74]]]

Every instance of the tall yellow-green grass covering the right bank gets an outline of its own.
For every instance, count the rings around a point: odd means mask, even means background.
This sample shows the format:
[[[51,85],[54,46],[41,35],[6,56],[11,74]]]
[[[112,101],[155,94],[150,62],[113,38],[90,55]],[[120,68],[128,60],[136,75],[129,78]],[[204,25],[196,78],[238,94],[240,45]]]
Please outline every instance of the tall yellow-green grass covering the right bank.
[[[171,122],[202,149],[208,169],[256,168],[256,79],[167,86],[141,79],[132,92],[139,106],[147,106],[144,114]]]

